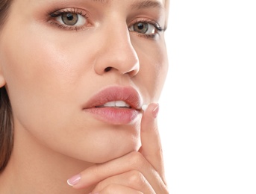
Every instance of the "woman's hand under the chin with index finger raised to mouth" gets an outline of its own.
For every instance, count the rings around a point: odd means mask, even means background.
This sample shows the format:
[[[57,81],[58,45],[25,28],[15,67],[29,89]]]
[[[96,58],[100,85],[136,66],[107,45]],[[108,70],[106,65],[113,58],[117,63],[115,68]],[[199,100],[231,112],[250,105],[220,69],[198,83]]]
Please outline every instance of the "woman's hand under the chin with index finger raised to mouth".
[[[143,114],[140,151],[89,167],[76,176],[73,188],[96,184],[92,193],[168,193],[157,113],[158,104],[152,103]]]

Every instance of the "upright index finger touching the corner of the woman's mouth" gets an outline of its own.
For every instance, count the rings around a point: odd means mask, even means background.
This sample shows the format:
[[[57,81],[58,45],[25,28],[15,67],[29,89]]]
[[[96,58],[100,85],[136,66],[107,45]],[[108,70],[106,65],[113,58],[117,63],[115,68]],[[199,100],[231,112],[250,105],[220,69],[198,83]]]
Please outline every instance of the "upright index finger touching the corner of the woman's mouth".
[[[157,127],[157,113],[159,105],[149,104],[141,120],[140,139],[142,146],[140,153],[152,164],[154,169],[164,180],[163,150]]]

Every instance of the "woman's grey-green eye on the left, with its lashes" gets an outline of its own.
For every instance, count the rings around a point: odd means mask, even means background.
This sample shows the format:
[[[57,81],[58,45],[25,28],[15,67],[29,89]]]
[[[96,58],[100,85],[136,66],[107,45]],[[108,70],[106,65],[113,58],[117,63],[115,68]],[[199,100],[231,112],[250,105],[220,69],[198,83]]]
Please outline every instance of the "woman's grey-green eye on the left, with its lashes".
[[[69,28],[69,30],[78,30],[87,24],[87,14],[73,8],[72,10],[58,10],[51,13],[51,22],[60,28]]]

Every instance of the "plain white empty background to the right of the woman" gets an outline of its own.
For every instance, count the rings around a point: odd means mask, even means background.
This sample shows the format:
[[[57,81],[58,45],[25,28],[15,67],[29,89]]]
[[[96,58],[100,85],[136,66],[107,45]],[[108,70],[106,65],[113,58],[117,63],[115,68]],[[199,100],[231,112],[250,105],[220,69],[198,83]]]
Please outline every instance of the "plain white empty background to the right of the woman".
[[[169,191],[256,193],[256,1],[171,0],[159,126]]]

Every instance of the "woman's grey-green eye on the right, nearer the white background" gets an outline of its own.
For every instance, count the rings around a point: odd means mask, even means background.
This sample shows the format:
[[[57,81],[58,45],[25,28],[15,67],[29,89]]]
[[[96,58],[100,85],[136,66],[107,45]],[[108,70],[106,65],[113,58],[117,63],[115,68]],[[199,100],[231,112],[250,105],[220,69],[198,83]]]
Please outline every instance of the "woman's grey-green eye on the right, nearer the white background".
[[[157,23],[152,22],[136,22],[129,27],[129,31],[135,31],[140,34],[154,35],[158,31],[162,31]]]

